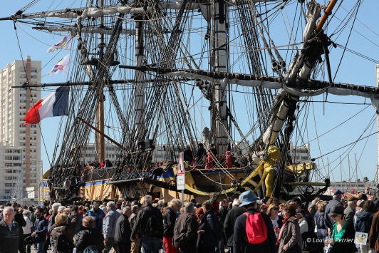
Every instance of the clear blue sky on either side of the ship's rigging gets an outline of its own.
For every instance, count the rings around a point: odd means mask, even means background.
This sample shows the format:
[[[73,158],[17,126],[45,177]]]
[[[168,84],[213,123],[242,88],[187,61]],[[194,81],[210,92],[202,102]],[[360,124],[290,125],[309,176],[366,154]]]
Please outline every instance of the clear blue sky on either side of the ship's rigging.
[[[20,8],[29,4],[30,0],[17,0],[17,1],[4,1],[1,4],[0,16],[10,16],[14,14]],[[67,5],[73,4],[78,6],[84,1],[47,1],[41,0],[33,6],[26,13],[34,11],[45,11],[51,6],[50,9],[66,9]],[[297,1],[296,1],[297,2]],[[323,1],[321,1],[322,3]],[[356,1],[345,1],[346,9],[338,10],[336,14],[336,23],[339,23],[338,19],[343,20],[349,9],[349,4],[353,5]],[[53,3],[53,4],[51,4]],[[350,6],[351,7],[351,6]],[[378,26],[378,9],[379,1],[363,1],[360,11],[358,12],[357,20],[354,24],[354,29],[351,32],[351,38],[348,43],[348,48],[352,51],[359,52],[364,56],[379,61],[379,26]],[[16,39],[16,33],[14,31],[14,24],[12,21],[1,21],[1,33],[2,39],[0,42],[0,68],[3,68],[6,63],[11,63],[15,59],[21,59],[19,51],[19,45]],[[350,26],[352,21],[348,23]],[[45,66],[42,70],[42,75],[48,73],[53,67],[53,64],[66,55],[67,52],[60,52],[56,56],[56,53],[46,53],[48,45],[57,43],[63,36],[54,36],[48,33],[41,33],[32,30],[24,24],[17,24],[17,33],[19,35],[19,43],[21,46],[22,56],[24,59],[26,56],[31,56],[32,60],[41,60],[42,66]],[[24,29],[24,31],[22,30]],[[275,31],[275,28],[271,28],[271,33]],[[350,29],[346,29],[350,31]],[[328,33],[329,35],[330,33]],[[336,40],[336,43],[345,44],[348,33],[343,33],[341,37],[332,37]],[[331,52],[332,72],[335,73],[338,68],[343,50],[341,48],[333,49]],[[48,63],[50,61],[50,63]],[[241,71],[243,72],[243,71]],[[55,75],[44,77],[42,83],[54,83],[60,81],[67,81],[66,75]],[[343,61],[338,69],[338,73],[335,79],[336,82],[341,83],[353,83],[364,86],[375,86],[375,63],[368,61],[360,56],[356,56],[353,53],[346,52],[343,56]],[[42,97],[46,96],[49,91],[42,91]],[[320,95],[313,98],[314,101],[324,100],[324,96]],[[364,98],[357,98],[353,96],[335,96],[328,95],[328,101],[337,103],[312,103],[307,112],[308,114],[308,130],[306,131],[306,140],[313,140],[317,135],[322,135],[328,132],[332,128],[343,123],[343,121],[351,118],[355,113],[363,110],[367,105],[346,105],[338,103],[370,103],[369,100]],[[242,104],[244,105],[244,104]],[[311,157],[317,158],[320,155],[329,153],[333,150],[341,148],[344,145],[354,142],[360,135],[363,137],[370,133],[377,131],[376,123],[370,123],[375,115],[375,109],[369,106],[362,113],[348,120],[348,122],[339,126],[335,130],[323,135],[318,140],[311,141]],[[316,125],[313,118],[316,119]],[[53,145],[56,140],[56,132],[58,128],[59,118],[46,118],[42,121],[42,133],[46,143],[47,153],[43,147],[41,147],[41,159],[43,160],[44,170],[47,170],[48,158],[51,159]],[[242,124],[242,130],[249,130],[249,125]],[[368,130],[365,130],[368,128]],[[366,143],[367,140],[367,143]],[[348,179],[348,162],[346,157],[346,150],[349,150],[351,146],[331,153],[330,155],[323,156],[316,160],[320,167],[327,167],[327,158],[331,165],[329,165],[331,173],[331,180],[341,180],[340,165],[338,165],[339,157],[341,156],[342,167],[342,180]],[[370,180],[374,179],[376,165],[378,163],[378,146],[377,136],[373,135],[368,139],[360,141],[355,147],[350,150],[351,166],[355,167],[354,156],[357,156],[358,162],[358,178],[362,180],[363,177],[368,177]],[[332,162],[336,161],[336,162]],[[321,174],[325,175],[328,168],[322,169]],[[351,172],[353,175],[353,172]],[[355,179],[355,176],[354,176]]]

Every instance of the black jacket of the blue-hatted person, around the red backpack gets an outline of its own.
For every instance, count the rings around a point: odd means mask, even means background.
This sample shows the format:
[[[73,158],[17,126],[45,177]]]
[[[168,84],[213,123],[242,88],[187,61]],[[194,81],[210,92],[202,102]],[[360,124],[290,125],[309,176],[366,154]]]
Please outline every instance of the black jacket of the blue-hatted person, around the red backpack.
[[[249,214],[255,214],[258,210],[251,208],[247,210]],[[276,236],[274,232],[274,227],[272,227],[271,219],[265,213],[261,213],[261,217],[264,220],[267,228],[267,239],[261,244],[251,244],[247,241],[246,234],[246,215],[241,215],[237,218],[234,224],[234,253],[276,253]]]

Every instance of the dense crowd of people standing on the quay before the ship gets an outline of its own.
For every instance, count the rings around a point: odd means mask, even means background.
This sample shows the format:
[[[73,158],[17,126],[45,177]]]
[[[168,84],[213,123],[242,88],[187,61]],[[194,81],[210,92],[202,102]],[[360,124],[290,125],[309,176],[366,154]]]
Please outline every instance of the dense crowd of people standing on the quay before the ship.
[[[379,200],[340,190],[333,200],[279,204],[251,191],[233,201],[176,198],[93,205],[0,207],[0,252],[373,253],[379,251]],[[367,243],[355,244],[356,232]],[[362,238],[367,234],[367,238]]]

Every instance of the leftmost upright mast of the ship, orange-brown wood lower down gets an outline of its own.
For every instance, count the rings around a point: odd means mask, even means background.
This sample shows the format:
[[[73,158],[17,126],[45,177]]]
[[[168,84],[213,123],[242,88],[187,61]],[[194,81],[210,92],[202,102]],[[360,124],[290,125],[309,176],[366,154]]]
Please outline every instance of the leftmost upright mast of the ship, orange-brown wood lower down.
[[[100,0],[100,6],[104,6],[104,0]],[[100,26],[104,26],[104,16],[100,16]],[[104,34],[100,34],[100,45],[99,45],[99,53],[100,53],[100,61],[103,61],[104,58]],[[98,102],[98,110],[96,115],[96,128],[100,130],[101,133],[104,133],[104,101],[105,95],[103,94],[103,89],[100,91],[100,98]],[[97,135],[98,140],[98,161],[105,159],[105,139],[103,135]]]

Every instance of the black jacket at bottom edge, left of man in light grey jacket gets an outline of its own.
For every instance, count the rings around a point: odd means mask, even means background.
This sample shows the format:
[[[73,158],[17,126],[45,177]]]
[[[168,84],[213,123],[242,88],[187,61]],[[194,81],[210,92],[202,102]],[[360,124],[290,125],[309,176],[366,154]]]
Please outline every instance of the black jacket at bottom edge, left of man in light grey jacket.
[[[98,229],[93,227],[82,227],[81,231],[75,235],[75,241],[73,244],[77,251],[83,252],[83,250],[89,245],[96,245],[98,252],[103,252],[104,237],[103,234],[98,232]]]

